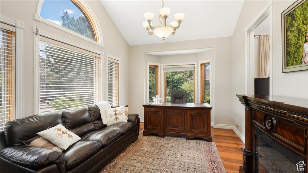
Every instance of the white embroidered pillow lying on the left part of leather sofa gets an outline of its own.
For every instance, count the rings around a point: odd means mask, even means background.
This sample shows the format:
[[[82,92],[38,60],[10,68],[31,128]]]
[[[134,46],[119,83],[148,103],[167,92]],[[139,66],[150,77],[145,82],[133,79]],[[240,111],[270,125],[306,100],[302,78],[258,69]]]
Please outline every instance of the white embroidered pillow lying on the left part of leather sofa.
[[[44,131],[40,131],[37,134],[64,150],[81,139],[78,135],[67,130],[61,124]]]

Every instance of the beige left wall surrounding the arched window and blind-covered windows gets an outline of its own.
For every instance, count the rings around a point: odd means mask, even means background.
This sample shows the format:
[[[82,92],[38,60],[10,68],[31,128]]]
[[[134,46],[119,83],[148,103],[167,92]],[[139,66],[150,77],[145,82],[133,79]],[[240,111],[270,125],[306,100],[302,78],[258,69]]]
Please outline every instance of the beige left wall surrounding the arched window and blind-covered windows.
[[[38,1],[0,1],[0,15],[12,20],[19,20],[25,23],[23,32],[23,116],[27,117],[34,114],[34,34],[33,26],[37,26],[43,31],[55,34],[59,37],[78,42],[93,49],[103,51],[103,94],[106,97],[106,55],[111,54],[121,58],[121,83],[120,86],[120,105],[128,104],[128,50],[129,45],[111,20],[107,11],[99,1],[86,1],[93,13],[96,15],[99,24],[105,48],[87,42],[74,35],[68,34],[62,30],[38,22],[33,19]]]

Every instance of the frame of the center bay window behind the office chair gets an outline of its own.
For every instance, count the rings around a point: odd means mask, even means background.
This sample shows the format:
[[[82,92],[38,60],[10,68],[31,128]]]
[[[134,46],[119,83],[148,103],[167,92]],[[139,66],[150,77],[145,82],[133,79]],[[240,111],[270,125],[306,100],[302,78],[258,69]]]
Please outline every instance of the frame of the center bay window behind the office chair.
[[[171,64],[161,64],[162,66],[162,83],[164,83],[163,85],[163,89],[162,91],[164,92],[164,98],[166,99],[166,72],[164,71],[164,68],[165,67],[168,67],[168,66],[174,66],[174,67],[180,67],[180,66],[193,66],[195,69],[194,69],[194,94],[193,94],[193,103],[198,103],[198,98],[196,98],[196,95],[198,95],[198,80],[196,80],[198,78],[198,66],[197,66],[197,62],[184,62],[184,63],[171,63]],[[165,100],[166,101],[166,100]]]

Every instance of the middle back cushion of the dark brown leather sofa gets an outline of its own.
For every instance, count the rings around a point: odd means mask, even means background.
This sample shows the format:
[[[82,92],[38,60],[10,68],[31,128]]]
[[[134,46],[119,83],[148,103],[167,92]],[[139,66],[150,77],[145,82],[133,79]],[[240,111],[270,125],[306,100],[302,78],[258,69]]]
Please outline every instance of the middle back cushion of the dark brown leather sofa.
[[[61,115],[64,126],[79,137],[95,131],[95,125],[87,107],[64,110]]]

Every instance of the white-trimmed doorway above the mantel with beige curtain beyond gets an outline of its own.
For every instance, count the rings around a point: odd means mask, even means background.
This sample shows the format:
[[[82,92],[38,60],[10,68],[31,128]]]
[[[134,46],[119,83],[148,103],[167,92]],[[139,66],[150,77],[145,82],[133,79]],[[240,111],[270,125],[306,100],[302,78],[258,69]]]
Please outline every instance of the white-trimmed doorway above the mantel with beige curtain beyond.
[[[245,28],[245,94],[247,95],[255,94],[255,78],[267,80],[269,82],[269,87],[267,86],[267,88],[269,88],[267,89],[269,90],[268,94],[272,95],[272,17],[272,4],[269,3]],[[267,69],[264,69],[264,65],[262,66],[262,63],[264,64],[264,59],[260,56],[260,54],[262,54],[262,49],[260,51],[260,41],[263,39],[260,38],[266,37],[269,38],[269,62],[266,64]],[[261,45],[261,47],[263,47],[263,45]],[[264,83],[264,81],[261,81],[261,83],[262,82]],[[259,83],[260,80],[256,80],[256,85]],[[259,91],[257,91],[256,94],[259,94]]]

